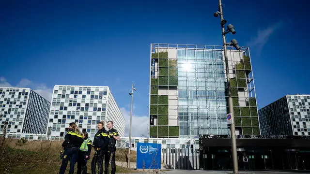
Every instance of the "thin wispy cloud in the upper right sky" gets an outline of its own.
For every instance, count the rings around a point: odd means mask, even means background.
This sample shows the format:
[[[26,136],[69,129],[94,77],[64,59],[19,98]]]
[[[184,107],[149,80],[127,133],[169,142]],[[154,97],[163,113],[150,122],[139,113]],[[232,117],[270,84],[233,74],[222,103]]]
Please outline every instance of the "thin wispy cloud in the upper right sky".
[[[268,42],[269,37],[282,25],[282,21],[279,21],[273,25],[268,26],[265,29],[259,29],[257,31],[257,35],[255,37],[252,37],[250,41],[248,41],[247,45],[256,49],[257,53],[260,54],[263,46]]]

